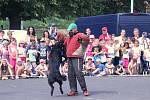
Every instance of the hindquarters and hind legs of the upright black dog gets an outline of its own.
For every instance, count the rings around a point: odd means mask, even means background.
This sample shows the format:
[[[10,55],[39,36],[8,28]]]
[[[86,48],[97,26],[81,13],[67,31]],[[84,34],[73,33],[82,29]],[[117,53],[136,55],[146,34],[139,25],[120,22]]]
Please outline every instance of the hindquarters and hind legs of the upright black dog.
[[[59,69],[49,66],[48,71],[48,84],[51,87],[51,96],[53,96],[54,86],[53,84],[57,82],[59,84],[59,89],[61,94],[63,94],[62,84],[63,81],[66,81],[66,76],[62,76],[59,72]]]

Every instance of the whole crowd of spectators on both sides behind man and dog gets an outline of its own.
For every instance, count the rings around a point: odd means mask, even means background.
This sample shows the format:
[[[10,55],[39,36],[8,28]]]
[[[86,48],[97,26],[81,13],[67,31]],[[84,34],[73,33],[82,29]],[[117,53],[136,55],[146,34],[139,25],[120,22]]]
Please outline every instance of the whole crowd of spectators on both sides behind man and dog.
[[[126,37],[124,29],[120,36],[109,34],[107,27],[100,32],[99,38],[95,38],[90,28],[85,30],[90,38],[84,54],[85,75],[149,74],[150,40],[145,32],[141,37],[138,28],[133,29],[134,37]],[[55,25],[44,31],[41,39],[37,38],[34,27],[29,27],[25,41],[17,41],[11,31],[4,38],[4,31],[0,30],[0,78],[47,77],[49,54],[58,37]],[[67,71],[65,60],[60,73],[67,76]]]

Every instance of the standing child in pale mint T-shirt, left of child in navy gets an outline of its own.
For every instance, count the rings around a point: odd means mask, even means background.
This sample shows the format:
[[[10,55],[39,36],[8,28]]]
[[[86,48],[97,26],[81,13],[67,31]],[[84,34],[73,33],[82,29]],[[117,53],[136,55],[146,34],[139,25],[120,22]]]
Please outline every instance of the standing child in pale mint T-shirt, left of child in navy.
[[[35,68],[37,66],[36,65],[37,52],[38,51],[36,49],[35,43],[32,43],[30,49],[27,52],[27,55],[28,55],[28,58],[29,58],[29,60],[31,62],[31,65],[32,65],[32,73],[33,74],[36,74]]]

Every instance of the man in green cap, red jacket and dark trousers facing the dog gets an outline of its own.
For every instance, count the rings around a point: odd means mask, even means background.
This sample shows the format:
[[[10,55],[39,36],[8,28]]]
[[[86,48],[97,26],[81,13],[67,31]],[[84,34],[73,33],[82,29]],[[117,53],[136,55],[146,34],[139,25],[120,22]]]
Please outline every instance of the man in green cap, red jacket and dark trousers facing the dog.
[[[77,92],[77,80],[83,90],[83,95],[88,96],[87,86],[84,75],[82,73],[83,66],[83,46],[82,42],[89,42],[89,38],[84,33],[77,31],[77,25],[71,23],[67,29],[69,31],[69,38],[66,38],[64,45],[66,46],[66,55],[68,58],[68,80],[70,85],[70,92],[68,96],[75,96]]]

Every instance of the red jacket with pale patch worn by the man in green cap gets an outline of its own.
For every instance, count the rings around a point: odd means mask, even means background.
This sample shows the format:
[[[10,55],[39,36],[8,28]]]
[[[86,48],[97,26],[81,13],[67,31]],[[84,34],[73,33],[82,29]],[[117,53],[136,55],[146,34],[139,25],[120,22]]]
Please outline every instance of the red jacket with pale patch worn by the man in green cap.
[[[67,57],[77,57],[82,58],[84,51],[82,43],[78,42],[78,39],[81,38],[85,42],[89,42],[89,38],[84,33],[77,33],[71,38],[66,38],[64,45],[66,46],[66,55]]]

